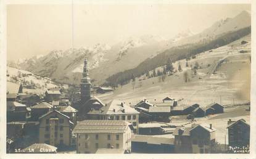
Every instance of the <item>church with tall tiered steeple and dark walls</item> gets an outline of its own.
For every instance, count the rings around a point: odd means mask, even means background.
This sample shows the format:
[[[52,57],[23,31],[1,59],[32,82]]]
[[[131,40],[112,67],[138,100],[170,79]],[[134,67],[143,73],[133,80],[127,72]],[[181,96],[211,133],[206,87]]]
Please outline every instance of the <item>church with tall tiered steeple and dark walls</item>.
[[[90,110],[104,107],[104,104],[100,99],[91,95],[91,81],[88,70],[88,60],[85,59],[85,65],[82,73],[83,76],[80,84],[80,100],[73,105],[73,107],[78,110],[78,121],[88,119],[87,113]]]

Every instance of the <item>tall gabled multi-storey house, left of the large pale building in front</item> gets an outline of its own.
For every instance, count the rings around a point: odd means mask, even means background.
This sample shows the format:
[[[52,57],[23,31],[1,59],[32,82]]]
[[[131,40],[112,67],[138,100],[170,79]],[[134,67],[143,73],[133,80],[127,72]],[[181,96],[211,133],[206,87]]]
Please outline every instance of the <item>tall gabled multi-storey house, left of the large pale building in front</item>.
[[[39,143],[53,146],[69,146],[72,141],[73,123],[70,118],[57,110],[52,110],[39,118]]]

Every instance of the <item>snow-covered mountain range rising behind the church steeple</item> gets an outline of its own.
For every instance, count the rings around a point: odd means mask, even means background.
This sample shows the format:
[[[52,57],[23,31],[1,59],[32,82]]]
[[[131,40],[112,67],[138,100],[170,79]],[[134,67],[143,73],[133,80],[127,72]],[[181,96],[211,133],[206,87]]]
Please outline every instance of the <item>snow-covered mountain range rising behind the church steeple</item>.
[[[250,14],[243,11],[234,18],[225,18],[225,20],[215,22],[211,27],[197,34],[188,29],[168,40],[152,35],[131,37],[123,39],[113,46],[96,44],[93,47],[51,51],[44,56],[39,55],[21,60],[18,65],[23,70],[48,76],[56,81],[80,83],[83,60],[87,58],[91,78],[94,83],[101,84],[110,75],[134,68],[144,60],[152,58],[170,47],[209,41],[223,33],[249,26]]]

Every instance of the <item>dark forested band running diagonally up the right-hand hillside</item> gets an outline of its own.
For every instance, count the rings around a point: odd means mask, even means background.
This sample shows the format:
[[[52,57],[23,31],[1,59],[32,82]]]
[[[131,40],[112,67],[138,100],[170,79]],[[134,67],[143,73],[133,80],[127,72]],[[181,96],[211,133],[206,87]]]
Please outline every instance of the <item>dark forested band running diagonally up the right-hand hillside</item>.
[[[233,31],[226,33],[225,35],[218,36],[211,41],[205,41],[204,43],[196,44],[186,44],[178,47],[171,47],[160,54],[157,54],[155,57],[148,58],[144,62],[140,63],[137,67],[125,70],[119,73],[116,73],[109,78],[107,78],[105,85],[106,86],[117,86],[118,84],[129,83],[134,77],[139,77],[144,75],[150,70],[153,70],[156,67],[166,65],[167,59],[171,59],[171,62],[181,59],[190,59],[193,55],[199,54],[200,52],[209,51],[211,49],[216,49],[220,46],[225,46],[237,39],[242,38],[243,36],[249,35],[251,27],[242,28],[241,30]]]

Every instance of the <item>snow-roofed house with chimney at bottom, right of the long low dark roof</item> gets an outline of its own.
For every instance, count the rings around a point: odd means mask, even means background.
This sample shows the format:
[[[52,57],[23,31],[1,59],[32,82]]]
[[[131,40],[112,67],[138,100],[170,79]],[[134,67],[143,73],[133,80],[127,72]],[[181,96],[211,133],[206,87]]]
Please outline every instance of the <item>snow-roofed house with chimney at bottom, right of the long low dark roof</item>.
[[[215,144],[215,131],[212,124],[192,124],[191,127],[177,127],[175,153],[212,153]]]

